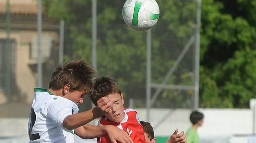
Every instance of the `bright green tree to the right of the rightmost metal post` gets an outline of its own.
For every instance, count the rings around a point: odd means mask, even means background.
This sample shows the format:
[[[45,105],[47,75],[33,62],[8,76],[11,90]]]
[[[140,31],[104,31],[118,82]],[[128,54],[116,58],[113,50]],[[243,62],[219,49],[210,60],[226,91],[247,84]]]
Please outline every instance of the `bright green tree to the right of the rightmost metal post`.
[[[253,8],[255,4],[239,0],[231,5],[226,1],[203,1],[202,107],[248,107],[250,98],[254,98],[256,19]]]

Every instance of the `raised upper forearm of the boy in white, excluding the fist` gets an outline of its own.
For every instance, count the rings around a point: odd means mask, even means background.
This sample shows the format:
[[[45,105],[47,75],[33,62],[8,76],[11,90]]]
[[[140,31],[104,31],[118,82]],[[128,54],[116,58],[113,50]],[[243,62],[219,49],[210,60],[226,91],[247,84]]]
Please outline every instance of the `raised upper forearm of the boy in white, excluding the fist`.
[[[69,115],[64,119],[62,125],[68,130],[73,130],[101,117],[101,115],[102,113],[100,109],[98,107],[94,107],[93,109],[85,112]]]

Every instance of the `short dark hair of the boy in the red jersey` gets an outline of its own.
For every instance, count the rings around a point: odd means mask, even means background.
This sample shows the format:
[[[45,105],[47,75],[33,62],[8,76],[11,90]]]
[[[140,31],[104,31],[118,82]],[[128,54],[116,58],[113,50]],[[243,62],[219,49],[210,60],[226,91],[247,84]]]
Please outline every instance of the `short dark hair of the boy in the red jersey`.
[[[118,93],[122,94],[120,87],[117,85],[114,78],[110,76],[99,77],[95,80],[95,85],[93,88],[93,94],[90,95],[91,102],[97,106],[97,101],[104,96],[109,94]]]

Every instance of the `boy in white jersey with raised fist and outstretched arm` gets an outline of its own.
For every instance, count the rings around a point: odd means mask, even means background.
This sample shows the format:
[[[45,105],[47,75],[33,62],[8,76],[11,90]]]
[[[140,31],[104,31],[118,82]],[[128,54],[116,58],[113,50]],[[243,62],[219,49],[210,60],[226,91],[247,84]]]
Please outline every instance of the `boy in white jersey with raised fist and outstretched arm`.
[[[74,134],[83,139],[108,134],[116,143],[132,143],[129,135],[114,126],[86,125],[109,112],[112,101],[101,98],[98,106],[78,113],[83,96],[90,94],[96,71],[85,60],[72,60],[52,73],[49,89],[35,88],[29,115],[29,143],[74,143]]]

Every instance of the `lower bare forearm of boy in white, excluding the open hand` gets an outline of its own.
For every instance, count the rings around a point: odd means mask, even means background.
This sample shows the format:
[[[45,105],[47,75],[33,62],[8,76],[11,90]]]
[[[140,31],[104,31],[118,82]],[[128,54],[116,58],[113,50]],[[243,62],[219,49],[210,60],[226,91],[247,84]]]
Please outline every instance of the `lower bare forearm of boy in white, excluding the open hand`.
[[[84,125],[75,129],[75,134],[82,139],[93,139],[107,134],[107,126]]]

